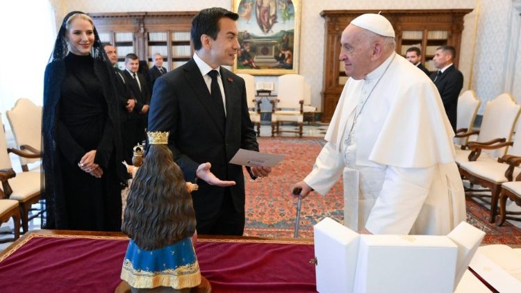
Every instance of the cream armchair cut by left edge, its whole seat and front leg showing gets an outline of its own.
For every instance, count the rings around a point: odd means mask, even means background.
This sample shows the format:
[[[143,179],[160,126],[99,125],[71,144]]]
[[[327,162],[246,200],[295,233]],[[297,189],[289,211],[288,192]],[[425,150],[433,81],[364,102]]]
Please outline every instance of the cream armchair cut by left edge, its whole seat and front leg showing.
[[[28,213],[31,205],[40,200],[40,171],[25,171],[15,174],[9,158],[9,153],[15,153],[24,158],[40,158],[40,154],[20,151],[7,147],[6,133],[3,132],[3,123],[0,115],[0,199],[12,199],[19,203],[22,217],[22,231],[28,231]]]

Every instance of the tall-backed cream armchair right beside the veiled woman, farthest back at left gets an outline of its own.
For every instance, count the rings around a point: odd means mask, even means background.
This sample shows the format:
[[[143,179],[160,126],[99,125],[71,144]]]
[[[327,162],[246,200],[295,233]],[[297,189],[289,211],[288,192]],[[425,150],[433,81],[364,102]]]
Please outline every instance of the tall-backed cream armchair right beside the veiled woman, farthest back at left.
[[[13,109],[6,111],[6,116],[15,136],[17,148],[40,155],[42,146],[42,107],[28,99],[18,99]],[[23,171],[28,171],[28,164],[36,163],[31,171],[40,171],[40,157],[26,158],[19,156]]]

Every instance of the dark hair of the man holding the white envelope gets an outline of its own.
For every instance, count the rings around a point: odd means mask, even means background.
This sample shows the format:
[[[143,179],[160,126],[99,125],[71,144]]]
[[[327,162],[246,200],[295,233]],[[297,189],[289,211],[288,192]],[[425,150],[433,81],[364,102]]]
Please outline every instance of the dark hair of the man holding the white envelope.
[[[199,11],[199,13],[192,18],[190,37],[194,43],[195,51],[203,47],[203,44],[201,44],[201,35],[209,35],[213,40],[217,39],[219,20],[222,19],[222,17],[237,20],[239,15],[224,8],[213,7]]]

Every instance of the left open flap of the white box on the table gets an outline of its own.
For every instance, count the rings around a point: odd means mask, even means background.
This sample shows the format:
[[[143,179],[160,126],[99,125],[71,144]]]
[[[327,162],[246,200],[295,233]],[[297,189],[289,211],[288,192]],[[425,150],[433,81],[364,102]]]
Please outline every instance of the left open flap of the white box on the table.
[[[353,292],[360,235],[330,218],[313,226],[317,291]]]

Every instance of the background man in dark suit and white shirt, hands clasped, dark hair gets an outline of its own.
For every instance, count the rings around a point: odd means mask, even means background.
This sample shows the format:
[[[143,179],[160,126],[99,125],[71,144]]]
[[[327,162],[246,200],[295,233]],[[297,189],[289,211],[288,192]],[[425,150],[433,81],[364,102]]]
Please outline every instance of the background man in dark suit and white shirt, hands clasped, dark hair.
[[[146,135],[144,133],[147,128],[147,112],[149,111],[150,92],[147,79],[138,72],[139,59],[134,53],[125,56],[125,83],[129,85],[132,97],[135,99],[135,106],[130,112],[129,119],[126,122],[127,137],[124,137],[124,145],[135,145],[142,142]]]

